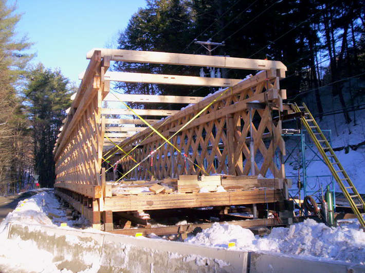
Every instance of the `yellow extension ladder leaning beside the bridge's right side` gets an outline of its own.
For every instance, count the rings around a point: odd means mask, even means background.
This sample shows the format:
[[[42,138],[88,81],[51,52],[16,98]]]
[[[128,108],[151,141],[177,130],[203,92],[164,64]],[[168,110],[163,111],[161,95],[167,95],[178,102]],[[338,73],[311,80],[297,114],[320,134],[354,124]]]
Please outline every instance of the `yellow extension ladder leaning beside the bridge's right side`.
[[[330,143],[328,143],[326,137],[324,136],[322,130],[319,128],[317,122],[313,118],[311,112],[309,112],[308,107],[303,103],[303,106],[298,106],[296,103],[293,104],[293,110],[295,112],[304,112],[304,116],[300,118],[302,124],[304,125],[305,129],[308,131],[309,135],[311,136],[312,140],[316,144],[319,152],[321,153],[324,162],[331,170],[333,177],[337,181],[338,185],[340,186],[344,196],[349,201],[350,206],[355,213],[357,219],[359,220],[362,227],[365,227],[365,221],[361,216],[360,209],[365,210],[365,203],[362,200],[359,192],[355,188],[354,184],[352,183],[349,175],[342,167],[341,163],[339,162],[338,158],[336,157],[335,152],[333,151]],[[330,158],[333,159],[334,162],[331,162]],[[355,203],[355,201],[360,203]]]

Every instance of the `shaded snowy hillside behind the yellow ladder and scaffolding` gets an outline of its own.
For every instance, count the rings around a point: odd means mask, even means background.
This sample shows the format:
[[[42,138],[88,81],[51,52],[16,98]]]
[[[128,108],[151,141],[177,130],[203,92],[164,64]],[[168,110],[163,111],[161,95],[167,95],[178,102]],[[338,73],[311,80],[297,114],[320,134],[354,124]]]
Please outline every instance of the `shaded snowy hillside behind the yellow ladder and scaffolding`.
[[[324,131],[327,139],[330,140],[339,161],[346,172],[348,172],[359,193],[365,193],[365,109],[362,109],[365,96],[361,91],[364,85],[361,80],[356,79],[344,84],[342,88],[346,109],[349,111],[351,118],[350,123],[345,122],[339,96],[332,95],[332,88],[330,86],[320,89],[324,112],[322,120],[319,117],[314,92],[306,94],[303,99],[321,130]],[[348,92],[350,88],[352,88],[352,92]],[[293,126],[293,123],[290,125]],[[288,128],[285,126],[287,125],[284,123],[283,128]],[[299,136],[296,139],[294,137],[286,139],[287,154],[293,151],[298,141],[300,141]],[[318,150],[307,133],[305,134],[305,144],[307,145],[305,149],[305,158],[308,161],[306,166],[307,176],[312,176],[312,178],[308,178],[308,189],[317,191],[320,190],[321,185],[325,189],[325,186],[331,183],[331,172],[323,162],[312,161],[312,159],[320,160],[321,156],[319,153],[319,157],[315,154]],[[301,164],[301,153],[298,147],[290,157],[288,163],[285,164],[285,172],[287,177],[293,179],[292,192],[295,193],[297,192],[295,189],[297,189],[298,166]],[[334,182],[336,183],[336,181]],[[341,191],[337,184],[335,191]]]

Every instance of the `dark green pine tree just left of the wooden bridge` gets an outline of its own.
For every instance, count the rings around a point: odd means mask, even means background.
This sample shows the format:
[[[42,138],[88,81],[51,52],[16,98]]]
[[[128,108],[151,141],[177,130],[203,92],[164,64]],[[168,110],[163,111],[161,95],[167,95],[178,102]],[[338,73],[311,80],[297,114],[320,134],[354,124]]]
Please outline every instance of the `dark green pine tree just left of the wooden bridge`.
[[[45,69],[39,64],[29,73],[24,90],[32,127],[34,172],[41,186],[54,182],[53,147],[56,143],[65,110],[70,106],[68,79],[60,71]]]

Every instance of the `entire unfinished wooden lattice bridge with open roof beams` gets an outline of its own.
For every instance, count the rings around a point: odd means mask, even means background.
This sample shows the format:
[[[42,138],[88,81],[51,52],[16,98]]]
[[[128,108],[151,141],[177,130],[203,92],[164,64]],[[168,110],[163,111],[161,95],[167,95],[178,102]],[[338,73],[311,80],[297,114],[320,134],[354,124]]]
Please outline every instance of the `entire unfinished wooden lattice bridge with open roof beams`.
[[[54,187],[94,227],[122,232],[118,228],[127,230],[132,222],[149,233],[151,212],[201,207],[221,215],[252,212],[253,222],[241,221],[243,226],[290,222],[281,127],[289,108],[279,87],[286,71],[281,62],[115,49],[93,49],[87,59],[54,147]],[[244,80],[114,72],[108,71],[111,61],[260,72]],[[130,95],[113,91],[113,81],[222,89],[207,97]],[[119,102],[119,108],[109,108],[116,105],[109,102]],[[128,102],[187,107],[132,109]],[[278,217],[267,219],[269,211]]]

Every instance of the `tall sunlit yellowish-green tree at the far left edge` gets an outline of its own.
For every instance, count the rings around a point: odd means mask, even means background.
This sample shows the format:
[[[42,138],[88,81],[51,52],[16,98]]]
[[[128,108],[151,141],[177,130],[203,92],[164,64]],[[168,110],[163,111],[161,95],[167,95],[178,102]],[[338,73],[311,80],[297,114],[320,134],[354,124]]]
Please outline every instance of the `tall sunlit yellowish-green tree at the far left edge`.
[[[15,26],[20,15],[14,15],[15,7],[8,7],[6,1],[0,1],[0,192],[8,193],[9,183],[19,182],[20,166],[26,157],[21,157],[20,147],[27,127],[22,114],[20,101],[16,96],[16,87],[32,55],[23,53],[31,44],[24,37],[15,38]],[[15,192],[15,189],[13,189]]]

